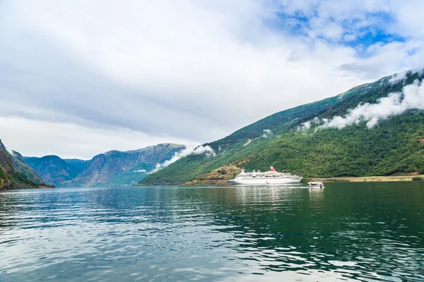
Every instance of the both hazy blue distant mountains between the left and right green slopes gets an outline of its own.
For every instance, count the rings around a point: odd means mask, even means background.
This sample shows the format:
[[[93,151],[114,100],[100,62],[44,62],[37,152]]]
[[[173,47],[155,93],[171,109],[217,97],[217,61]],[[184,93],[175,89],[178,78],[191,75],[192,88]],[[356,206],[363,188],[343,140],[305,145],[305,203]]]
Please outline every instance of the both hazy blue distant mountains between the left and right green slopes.
[[[156,166],[170,160],[184,145],[159,144],[133,151],[110,151],[90,161],[61,159],[57,156],[25,157],[46,183],[57,186],[91,187],[131,185]]]

